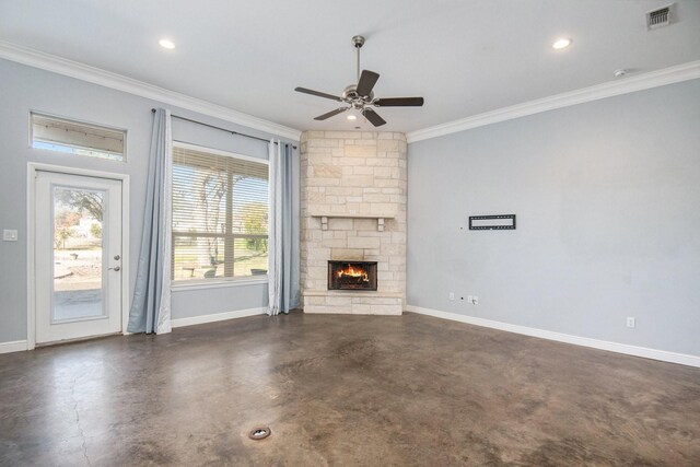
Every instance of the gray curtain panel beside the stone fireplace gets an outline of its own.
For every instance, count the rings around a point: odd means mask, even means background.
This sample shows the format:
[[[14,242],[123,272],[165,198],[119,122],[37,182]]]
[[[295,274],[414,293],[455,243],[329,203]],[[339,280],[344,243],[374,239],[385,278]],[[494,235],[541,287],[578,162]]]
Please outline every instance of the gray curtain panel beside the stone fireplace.
[[[299,161],[292,144],[270,141],[268,314],[299,306]]]

